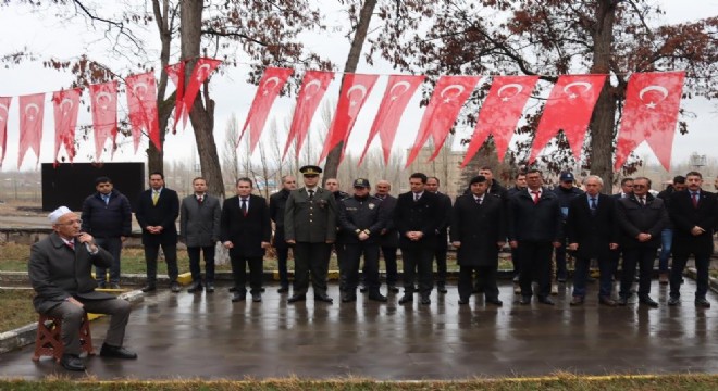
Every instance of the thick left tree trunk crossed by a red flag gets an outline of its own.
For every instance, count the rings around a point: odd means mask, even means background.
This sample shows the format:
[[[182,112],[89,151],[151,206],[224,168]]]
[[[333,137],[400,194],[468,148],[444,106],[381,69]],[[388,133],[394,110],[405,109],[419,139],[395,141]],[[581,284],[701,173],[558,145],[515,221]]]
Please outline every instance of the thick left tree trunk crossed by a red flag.
[[[197,63],[197,58],[199,58],[202,26],[202,1],[183,1],[181,14],[182,59],[187,60],[185,79],[189,80],[189,75],[191,75],[191,71]],[[205,98],[203,103],[202,96]],[[214,102],[209,99],[207,83],[205,84],[205,93],[198,94],[195,102],[193,102],[189,121],[191,122],[191,127],[195,129],[199,164],[201,166],[202,176],[207,179],[208,191],[211,194],[224,199],[222,168],[220,166],[220,156],[216,153],[216,143],[214,142],[213,134]]]

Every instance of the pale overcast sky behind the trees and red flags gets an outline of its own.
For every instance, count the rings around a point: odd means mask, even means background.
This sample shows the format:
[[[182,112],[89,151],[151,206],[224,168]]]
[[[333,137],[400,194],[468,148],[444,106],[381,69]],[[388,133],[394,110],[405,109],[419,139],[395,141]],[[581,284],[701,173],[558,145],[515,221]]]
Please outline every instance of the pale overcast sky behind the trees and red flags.
[[[718,15],[718,0],[663,0],[659,2],[663,3],[667,12],[665,22],[668,23],[694,21],[708,15]],[[102,3],[103,5],[106,4],[106,2]],[[77,23],[76,20],[73,23],[65,23],[65,21],[49,17],[47,13],[42,13],[42,17],[40,17],[38,13],[28,12],[26,9],[18,9],[17,7],[4,7],[0,8],[0,47],[3,48],[3,52],[11,52],[26,47],[33,52],[42,53],[46,56],[53,55],[60,59],[73,59],[85,52],[85,48],[90,48],[89,50],[96,53],[104,53],[104,50],[109,47],[109,42],[106,39],[101,39],[100,34],[86,33],[86,26]],[[332,26],[341,27],[345,24],[344,21],[345,17],[339,14],[330,15],[327,17],[329,30],[332,30]],[[153,26],[149,26],[148,34],[154,34]],[[157,48],[152,48],[152,41],[148,43],[149,54],[154,55],[153,59],[157,59],[157,53],[152,52]],[[344,64],[349,43],[344,37],[336,34],[332,36],[327,33],[325,36],[308,39],[306,45],[310,50],[324,55],[331,55],[336,64]],[[174,59],[176,58],[177,55],[174,56]],[[107,64],[114,64],[115,61],[108,58]],[[157,67],[159,63],[154,66]],[[133,71],[135,70],[125,70],[124,75],[126,76]],[[366,63],[361,63],[357,72],[384,75],[389,73],[391,68],[385,65],[369,66]],[[212,78],[210,88],[212,97],[216,102],[215,138],[219,146],[222,146],[224,142],[224,128],[230,115],[236,113],[239,123],[243,124],[249,111],[256,87],[244,83],[246,73],[247,67],[245,65],[240,65],[237,68],[225,67],[223,75]],[[297,76],[300,76],[300,71],[295,73],[295,77]],[[718,75],[716,77],[718,83]],[[51,92],[66,87],[71,79],[72,77],[70,75],[46,70],[39,63],[25,62],[18,66],[0,68],[0,80],[2,80],[0,84],[0,96],[17,97],[37,92],[50,92],[46,97],[45,131],[40,151],[40,163],[50,163],[53,159],[54,129],[52,105],[50,102]],[[337,74],[330,91],[324,98],[325,101],[335,101],[335,97],[338,93],[339,80],[341,76]],[[485,79],[483,83],[485,83]],[[350,150],[356,153],[360,153],[366,143],[369,128],[381,101],[385,84],[386,77],[381,77],[357,121],[357,125],[349,139]],[[170,88],[169,92],[171,91],[172,88]],[[418,96],[419,93],[409,103],[409,109],[404,115],[400,124],[401,130],[395,142],[395,150],[408,148],[413,143],[421,114],[423,113],[423,109],[419,108]],[[87,97],[87,92],[85,92],[85,97]],[[121,94],[119,100],[121,103],[120,113],[122,115],[122,113],[126,113],[126,98],[124,94]],[[278,122],[284,122],[292,103],[293,98],[277,99],[270,113],[269,121],[275,118]],[[8,151],[2,164],[2,171],[16,169],[18,140],[17,104],[16,98],[13,99],[8,125]],[[683,118],[689,122],[690,134],[686,136],[676,136],[673,163],[686,160],[693,152],[707,154],[710,157],[711,154],[715,154],[715,146],[718,141],[718,135],[716,134],[718,131],[718,127],[716,126],[716,123],[718,123],[717,104],[702,100],[686,100],[681,105],[694,112],[697,116],[695,118]],[[79,124],[91,124],[91,117],[87,109],[87,105],[81,109]],[[318,123],[318,117],[319,115],[315,116],[314,124]],[[457,133],[459,136],[468,137],[472,130],[471,128],[458,129]],[[141,151],[147,144],[146,139],[143,140],[137,154],[132,149],[129,138],[125,139],[120,136],[117,141],[125,144],[125,147],[115,153],[114,161],[145,161]],[[284,144],[284,141],[280,140],[282,144]],[[372,148],[380,148],[377,141],[374,141]],[[185,133],[180,131],[175,136],[169,135],[165,149],[172,152],[165,156],[168,160],[186,160],[193,155],[194,148],[190,146],[194,146],[191,128],[188,128]],[[219,150],[221,151],[222,148],[220,147]],[[646,146],[642,146],[637,150],[637,153],[641,156],[653,156],[653,153]],[[88,162],[88,155],[94,155],[94,142],[82,142],[75,161]],[[102,159],[110,161],[110,154],[103,154]],[[34,169],[36,167],[36,155],[32,151],[28,151],[22,168]]]

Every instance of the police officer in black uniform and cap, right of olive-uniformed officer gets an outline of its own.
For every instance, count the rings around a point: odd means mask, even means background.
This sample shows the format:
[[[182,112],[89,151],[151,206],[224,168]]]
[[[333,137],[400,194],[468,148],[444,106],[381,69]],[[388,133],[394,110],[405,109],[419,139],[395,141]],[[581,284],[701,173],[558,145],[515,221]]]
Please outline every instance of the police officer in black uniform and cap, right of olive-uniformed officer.
[[[362,255],[369,300],[386,301],[386,297],[379,292],[379,237],[388,216],[381,207],[382,201],[370,195],[369,191],[369,180],[358,178],[354,181],[354,197],[339,202],[338,242],[345,249],[344,264],[339,265],[346,276],[342,295],[344,303],[357,300],[359,262]]]

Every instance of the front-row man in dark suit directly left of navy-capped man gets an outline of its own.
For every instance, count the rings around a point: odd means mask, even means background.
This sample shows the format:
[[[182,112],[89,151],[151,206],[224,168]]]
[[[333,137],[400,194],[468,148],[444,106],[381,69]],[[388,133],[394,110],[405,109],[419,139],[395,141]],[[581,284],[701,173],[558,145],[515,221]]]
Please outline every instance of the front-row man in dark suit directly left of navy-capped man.
[[[531,283],[538,281],[538,302],[554,305],[550,300],[550,257],[554,248],[561,244],[562,216],[558,197],[544,189],[541,171],[527,173],[527,191],[509,201],[509,243],[519,253],[521,270],[520,304],[530,304]]]

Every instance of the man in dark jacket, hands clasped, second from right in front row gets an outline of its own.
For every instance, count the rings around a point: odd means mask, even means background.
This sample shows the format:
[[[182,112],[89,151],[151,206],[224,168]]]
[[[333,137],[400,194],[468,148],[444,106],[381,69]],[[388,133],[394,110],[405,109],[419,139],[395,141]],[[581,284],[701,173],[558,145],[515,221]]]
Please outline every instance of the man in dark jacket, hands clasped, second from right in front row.
[[[633,193],[618,201],[618,224],[621,228],[623,267],[619,305],[626,305],[631,295],[631,286],[639,266],[639,302],[652,307],[658,303],[651,299],[651,274],[656,253],[660,247],[660,232],[668,224],[668,212],[664,200],[654,198],[651,179],[639,177],[633,180]]]

